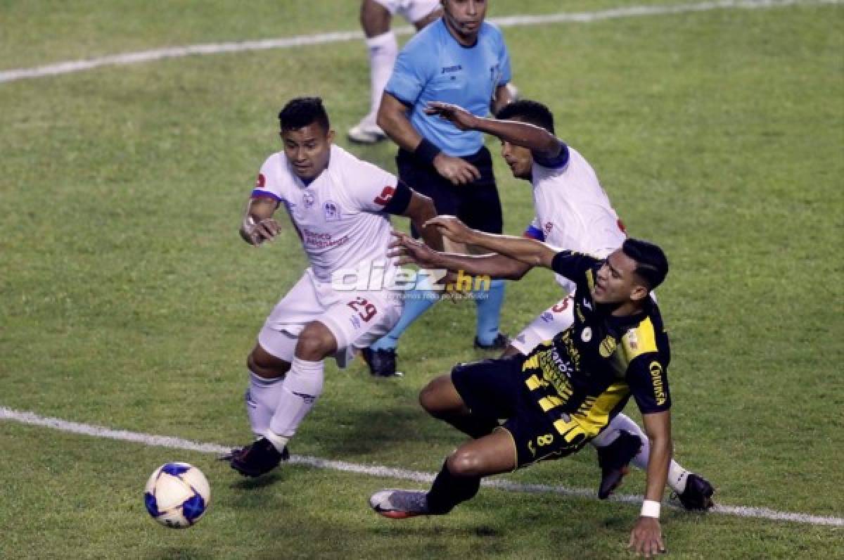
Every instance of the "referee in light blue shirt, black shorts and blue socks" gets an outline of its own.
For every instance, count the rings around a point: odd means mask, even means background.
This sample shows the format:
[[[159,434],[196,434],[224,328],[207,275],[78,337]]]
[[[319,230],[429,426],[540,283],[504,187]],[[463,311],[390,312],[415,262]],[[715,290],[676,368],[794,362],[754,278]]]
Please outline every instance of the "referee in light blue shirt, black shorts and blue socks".
[[[381,98],[378,126],[398,144],[398,177],[432,198],[438,214],[456,215],[469,227],[501,233],[501,203],[483,135],[426,115],[425,107],[430,101],[445,101],[479,117],[498,111],[511,101],[506,87],[510,57],[500,30],[484,22],[487,2],[441,2],[442,18],[419,31],[399,53]],[[373,375],[397,374],[399,336],[435,302],[425,286],[408,292],[395,328],[363,351]],[[504,280],[493,280],[489,291],[475,295],[475,302],[475,347],[504,350],[509,343],[499,331]]]

